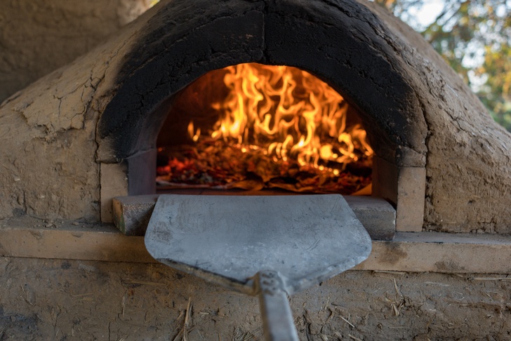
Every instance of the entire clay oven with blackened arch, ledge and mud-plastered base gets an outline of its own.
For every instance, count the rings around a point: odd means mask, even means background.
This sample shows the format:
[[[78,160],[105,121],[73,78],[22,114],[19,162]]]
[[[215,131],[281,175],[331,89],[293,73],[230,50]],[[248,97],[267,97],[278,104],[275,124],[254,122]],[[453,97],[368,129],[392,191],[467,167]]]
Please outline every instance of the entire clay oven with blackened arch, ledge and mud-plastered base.
[[[404,339],[425,331],[439,339],[505,335],[511,135],[418,34],[383,8],[355,0],[162,0],[105,44],[1,103],[4,320],[15,317],[27,331],[25,316],[42,335],[143,339],[156,329],[167,337],[193,307],[197,315],[218,312],[194,325],[209,329],[206,338],[238,326],[253,330],[250,301],[161,271],[143,237],[124,236],[111,223],[113,198],[154,197],[157,138],[180,95],[213,70],[248,62],[297,67],[343,97],[375,153],[373,197],[364,199],[390,201],[397,217],[393,241],[373,240],[356,271],[294,301],[297,312],[305,302],[314,312],[306,328],[383,339],[398,330]],[[189,123],[187,117],[180,129]],[[197,126],[195,120],[194,135]],[[151,202],[137,205],[148,211]],[[401,232],[410,230],[421,232]],[[394,272],[386,274],[394,281],[375,270]],[[172,304],[162,301],[167,293]],[[346,321],[328,317],[328,301],[332,310],[347,303]],[[57,323],[62,307],[68,314]]]

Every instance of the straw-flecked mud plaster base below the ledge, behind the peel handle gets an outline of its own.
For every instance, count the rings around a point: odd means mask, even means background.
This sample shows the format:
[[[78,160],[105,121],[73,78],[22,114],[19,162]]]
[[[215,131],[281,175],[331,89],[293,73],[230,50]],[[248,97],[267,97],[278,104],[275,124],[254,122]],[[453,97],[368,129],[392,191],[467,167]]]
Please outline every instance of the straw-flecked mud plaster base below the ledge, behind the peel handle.
[[[502,277],[348,271],[291,309],[300,340],[511,340]],[[262,338],[254,297],[164,265],[0,258],[0,283],[0,340]]]

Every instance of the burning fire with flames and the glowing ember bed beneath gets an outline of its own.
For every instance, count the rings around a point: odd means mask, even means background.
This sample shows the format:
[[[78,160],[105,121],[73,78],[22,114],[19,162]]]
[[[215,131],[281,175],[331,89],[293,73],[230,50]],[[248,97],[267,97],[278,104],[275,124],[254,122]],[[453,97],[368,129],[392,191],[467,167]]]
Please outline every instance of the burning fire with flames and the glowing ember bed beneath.
[[[225,72],[229,93],[212,105],[220,119],[208,132],[190,121],[196,145],[159,168],[166,174],[160,182],[298,192],[354,192],[369,185],[373,150],[366,132],[359,124],[347,126],[347,103],[330,86],[295,67],[250,63]],[[354,162],[359,166],[347,167]],[[355,174],[348,180],[348,173]]]

